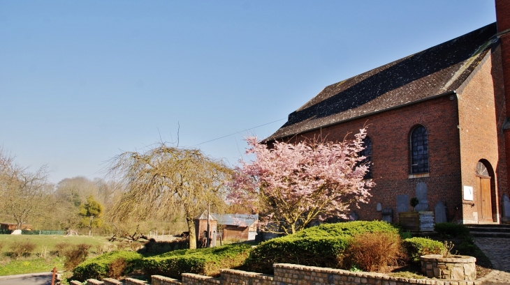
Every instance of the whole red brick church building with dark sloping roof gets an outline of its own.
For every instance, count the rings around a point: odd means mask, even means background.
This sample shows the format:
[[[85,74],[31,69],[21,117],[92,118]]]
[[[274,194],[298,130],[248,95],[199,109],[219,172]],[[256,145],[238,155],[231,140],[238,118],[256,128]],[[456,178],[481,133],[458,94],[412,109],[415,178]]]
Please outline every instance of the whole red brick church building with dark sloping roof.
[[[430,210],[449,222],[500,223],[510,195],[510,1],[497,22],[326,86],[265,141],[327,135],[340,141],[368,125],[363,155],[376,186],[360,219],[398,220],[398,197],[425,184]],[[407,196],[406,196],[407,195]],[[380,204],[379,204],[380,203]]]

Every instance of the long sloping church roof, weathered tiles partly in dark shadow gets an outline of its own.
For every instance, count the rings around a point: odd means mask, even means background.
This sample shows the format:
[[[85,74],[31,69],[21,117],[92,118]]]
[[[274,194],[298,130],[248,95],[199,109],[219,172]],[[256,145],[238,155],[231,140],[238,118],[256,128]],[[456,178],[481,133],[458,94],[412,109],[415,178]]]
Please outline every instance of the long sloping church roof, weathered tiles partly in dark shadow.
[[[495,43],[489,24],[403,59],[326,86],[265,141],[456,91]]]

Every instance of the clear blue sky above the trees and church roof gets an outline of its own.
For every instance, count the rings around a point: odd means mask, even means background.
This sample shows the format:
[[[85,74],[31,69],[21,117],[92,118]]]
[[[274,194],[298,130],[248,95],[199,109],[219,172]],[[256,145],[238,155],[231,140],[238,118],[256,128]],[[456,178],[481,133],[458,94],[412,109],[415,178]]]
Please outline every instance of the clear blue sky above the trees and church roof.
[[[0,145],[57,183],[180,125],[234,165],[323,87],[491,22],[491,0],[0,0]]]

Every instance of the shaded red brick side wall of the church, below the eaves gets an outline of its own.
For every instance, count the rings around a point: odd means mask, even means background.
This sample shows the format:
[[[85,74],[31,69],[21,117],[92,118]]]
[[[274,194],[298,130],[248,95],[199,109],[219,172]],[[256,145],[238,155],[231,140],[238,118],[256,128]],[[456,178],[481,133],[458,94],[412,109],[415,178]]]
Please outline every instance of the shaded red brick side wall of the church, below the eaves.
[[[428,177],[410,178],[409,135],[418,124],[428,132],[430,171]],[[381,212],[376,211],[376,204],[381,203],[382,208],[393,209],[393,220],[397,220],[397,195],[415,197],[416,184],[420,182],[428,187],[430,210],[438,201],[443,201],[450,220],[462,219],[462,212],[456,210],[462,205],[462,197],[458,106],[454,95],[332,125],[301,134],[296,139],[321,135],[330,141],[341,141],[349,132],[351,135],[347,138],[353,139],[352,133],[358,132],[363,125],[368,125],[367,134],[372,140],[372,177],[376,186],[370,191],[370,202],[360,204],[360,209],[353,209],[360,219],[381,219]]]

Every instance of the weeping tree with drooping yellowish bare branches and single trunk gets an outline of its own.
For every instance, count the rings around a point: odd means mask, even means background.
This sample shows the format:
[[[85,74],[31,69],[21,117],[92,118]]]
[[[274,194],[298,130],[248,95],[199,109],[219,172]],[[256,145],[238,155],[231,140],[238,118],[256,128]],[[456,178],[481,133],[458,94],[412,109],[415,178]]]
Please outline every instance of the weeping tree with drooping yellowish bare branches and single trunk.
[[[224,207],[231,169],[199,150],[157,144],[143,153],[113,157],[108,174],[122,187],[122,195],[108,214],[112,222],[165,219],[182,210],[189,248],[194,249],[194,217],[207,205]]]

